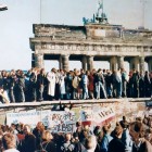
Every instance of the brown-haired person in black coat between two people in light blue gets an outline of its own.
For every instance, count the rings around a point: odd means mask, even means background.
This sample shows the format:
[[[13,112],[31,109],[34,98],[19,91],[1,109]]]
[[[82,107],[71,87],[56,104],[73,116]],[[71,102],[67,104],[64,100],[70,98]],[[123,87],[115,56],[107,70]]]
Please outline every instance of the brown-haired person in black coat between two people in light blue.
[[[109,143],[107,152],[125,152],[125,144],[122,142],[123,128],[121,126],[116,126],[114,129],[114,139],[112,139]]]

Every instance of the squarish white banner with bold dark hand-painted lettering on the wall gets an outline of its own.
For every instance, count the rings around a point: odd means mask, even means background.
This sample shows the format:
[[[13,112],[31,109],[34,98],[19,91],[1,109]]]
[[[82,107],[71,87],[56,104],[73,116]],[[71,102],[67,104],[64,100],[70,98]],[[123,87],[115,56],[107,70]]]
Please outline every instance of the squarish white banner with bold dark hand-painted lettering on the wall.
[[[76,125],[74,112],[51,112],[50,128],[52,132],[73,132]]]

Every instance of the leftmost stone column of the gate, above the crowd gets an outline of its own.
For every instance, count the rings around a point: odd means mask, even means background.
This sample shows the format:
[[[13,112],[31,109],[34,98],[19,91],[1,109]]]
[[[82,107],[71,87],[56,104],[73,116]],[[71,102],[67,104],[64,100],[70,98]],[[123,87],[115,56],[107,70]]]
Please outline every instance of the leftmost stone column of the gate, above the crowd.
[[[43,68],[43,54],[35,54],[35,67]]]

